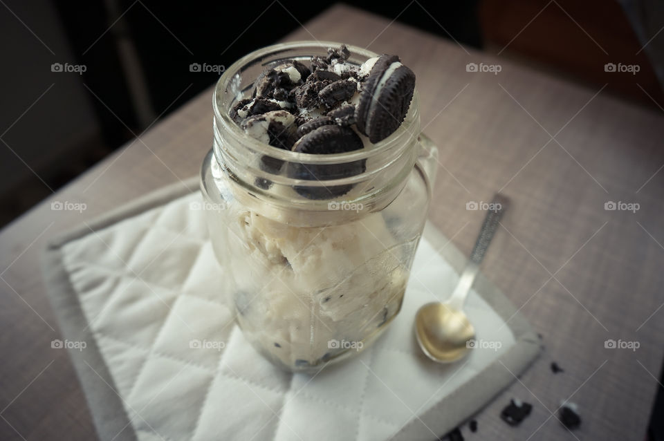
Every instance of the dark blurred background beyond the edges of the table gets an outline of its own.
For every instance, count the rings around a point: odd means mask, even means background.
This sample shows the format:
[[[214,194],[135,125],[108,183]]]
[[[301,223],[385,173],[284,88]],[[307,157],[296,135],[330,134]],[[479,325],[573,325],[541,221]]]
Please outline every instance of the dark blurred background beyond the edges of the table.
[[[609,83],[608,93],[638,106],[662,109],[664,93],[652,53],[649,57],[649,51],[639,51],[643,35],[617,1],[547,3],[356,1],[353,6],[490,53],[509,44],[501,56],[581,85],[597,88]],[[652,6],[656,2],[637,3]],[[285,0],[4,0],[0,6],[4,62],[0,69],[0,226],[219,77],[218,73],[191,72],[190,64],[230,66],[328,6],[322,1]],[[654,31],[650,30],[652,35]],[[654,40],[649,49],[661,49],[660,41]],[[607,59],[598,46],[606,48],[614,60]],[[641,71],[626,81],[609,80],[589,67],[615,59],[639,64]],[[53,63],[84,65],[86,71],[82,75],[53,72]],[[657,402],[651,438],[663,440],[663,422],[656,417],[664,415],[661,393]]]

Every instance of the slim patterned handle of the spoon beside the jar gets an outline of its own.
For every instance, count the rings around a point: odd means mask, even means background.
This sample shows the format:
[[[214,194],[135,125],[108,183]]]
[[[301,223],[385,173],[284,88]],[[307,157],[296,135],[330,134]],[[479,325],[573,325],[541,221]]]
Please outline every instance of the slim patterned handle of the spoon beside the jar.
[[[477,236],[477,242],[472,248],[470,253],[470,259],[468,263],[463,268],[461,276],[459,276],[459,283],[457,288],[454,288],[452,296],[450,299],[445,302],[448,305],[455,309],[461,310],[463,308],[463,303],[465,302],[465,297],[468,296],[472,283],[475,281],[475,276],[477,276],[477,271],[479,270],[479,264],[484,258],[484,254],[491,243],[493,234],[496,232],[496,229],[500,223],[505,210],[509,205],[509,200],[501,194],[496,194],[489,205],[489,210],[486,212],[486,217],[484,218],[484,223],[482,224],[481,229],[479,230],[479,236]]]

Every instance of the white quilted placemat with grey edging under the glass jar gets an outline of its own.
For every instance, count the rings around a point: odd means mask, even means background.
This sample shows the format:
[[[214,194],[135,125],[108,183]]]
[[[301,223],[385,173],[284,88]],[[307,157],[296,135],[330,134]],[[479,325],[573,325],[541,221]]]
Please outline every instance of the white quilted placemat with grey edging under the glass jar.
[[[104,440],[433,440],[511,382],[498,360],[520,372],[537,353],[527,323],[504,326],[514,310],[481,279],[467,303],[478,348],[452,365],[421,355],[414,314],[445,300],[463,265],[427,227],[385,335],[316,375],[283,372],[234,323],[200,200],[162,191],[47,253],[64,337],[86,341],[71,353]]]

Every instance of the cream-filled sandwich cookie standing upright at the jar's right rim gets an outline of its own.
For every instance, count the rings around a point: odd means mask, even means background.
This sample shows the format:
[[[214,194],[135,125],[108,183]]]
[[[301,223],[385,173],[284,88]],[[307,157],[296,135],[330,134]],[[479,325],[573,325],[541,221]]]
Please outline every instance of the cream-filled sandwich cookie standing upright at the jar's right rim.
[[[396,55],[381,55],[371,68],[356,109],[360,133],[379,142],[394,133],[408,113],[415,74]]]

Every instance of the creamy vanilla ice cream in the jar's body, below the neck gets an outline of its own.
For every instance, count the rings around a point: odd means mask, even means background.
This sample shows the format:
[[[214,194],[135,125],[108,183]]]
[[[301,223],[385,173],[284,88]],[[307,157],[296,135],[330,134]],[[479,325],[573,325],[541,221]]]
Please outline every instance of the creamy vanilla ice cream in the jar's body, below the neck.
[[[415,243],[398,244],[380,213],[302,228],[245,211],[237,225],[244,241],[230,241],[239,248],[227,252],[249,253],[257,265],[234,268],[235,279],[266,281],[259,293],[239,289],[238,320],[250,341],[286,366],[333,357],[342,348],[329,341],[363,341],[400,308]]]

